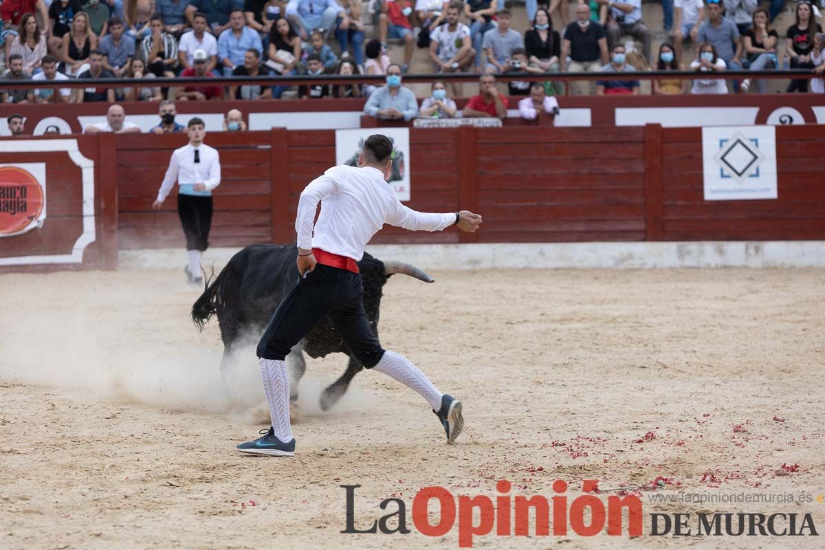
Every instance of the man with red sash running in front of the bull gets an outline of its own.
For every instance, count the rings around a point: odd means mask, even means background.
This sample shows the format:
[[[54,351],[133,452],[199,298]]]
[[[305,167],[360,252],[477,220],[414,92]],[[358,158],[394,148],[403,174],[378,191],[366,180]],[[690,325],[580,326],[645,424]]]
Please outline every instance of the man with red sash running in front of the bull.
[[[464,425],[461,402],[439,392],[406,357],[381,347],[364,312],[357,261],[384,223],[427,231],[458,225],[474,232],[481,216],[467,210],[423,214],[401,204],[386,181],[392,171],[392,153],[393,143],[384,135],[373,134],[364,141],[357,167],[332,167],[301,193],[295,219],[301,279],[272,315],[257,346],[272,425],[262,430],[263,437],[239,444],[237,449],[242,453],[295,454],[285,357],[324,316],[330,318],[366,369],[387,374],[427,399],[444,426],[448,443],[459,436]],[[321,214],[314,223],[318,201]]]

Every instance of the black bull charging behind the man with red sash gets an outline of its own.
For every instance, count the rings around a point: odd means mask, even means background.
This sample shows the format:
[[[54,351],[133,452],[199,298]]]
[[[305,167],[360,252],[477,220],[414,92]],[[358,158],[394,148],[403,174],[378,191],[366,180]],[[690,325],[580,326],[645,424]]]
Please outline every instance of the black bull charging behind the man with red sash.
[[[224,341],[220,369],[224,374],[227,374],[229,358],[233,352],[260,338],[278,304],[298,284],[298,266],[295,264],[297,254],[295,244],[256,244],[246,247],[232,256],[224,270],[208,282],[204,293],[192,306],[192,321],[199,330],[203,330],[213,314],[218,316],[220,337]],[[381,296],[390,275],[399,273],[427,283],[433,282],[430,275],[416,266],[400,261],[380,261],[367,253],[358,262],[358,269],[361,270],[364,286],[364,309],[376,335]],[[347,392],[352,378],[364,367],[352,356],[347,344],[335,327],[332,327],[332,322],[324,317],[292,348],[286,358],[290,368],[292,400],[298,397],[298,381],[304,375],[302,352],[314,359],[331,353],[343,353],[350,357],[347,370],[341,378],[321,394],[320,406],[328,411]]]

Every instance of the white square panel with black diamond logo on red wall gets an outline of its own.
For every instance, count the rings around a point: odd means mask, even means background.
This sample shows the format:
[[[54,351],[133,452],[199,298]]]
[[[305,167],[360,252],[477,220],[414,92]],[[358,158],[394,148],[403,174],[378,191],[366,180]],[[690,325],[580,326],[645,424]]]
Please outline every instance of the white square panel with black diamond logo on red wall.
[[[776,199],[775,126],[702,129],[705,200]]]

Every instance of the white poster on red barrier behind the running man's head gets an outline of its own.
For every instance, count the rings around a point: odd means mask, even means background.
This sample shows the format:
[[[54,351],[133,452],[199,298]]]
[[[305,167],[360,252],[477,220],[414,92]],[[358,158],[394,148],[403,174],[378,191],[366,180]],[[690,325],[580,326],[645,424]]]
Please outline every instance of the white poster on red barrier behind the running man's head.
[[[398,200],[410,200],[410,131],[408,128],[359,128],[335,130],[335,163],[358,165],[358,155],[364,140],[372,134],[384,134],[393,142],[393,168],[389,185],[398,194]]]

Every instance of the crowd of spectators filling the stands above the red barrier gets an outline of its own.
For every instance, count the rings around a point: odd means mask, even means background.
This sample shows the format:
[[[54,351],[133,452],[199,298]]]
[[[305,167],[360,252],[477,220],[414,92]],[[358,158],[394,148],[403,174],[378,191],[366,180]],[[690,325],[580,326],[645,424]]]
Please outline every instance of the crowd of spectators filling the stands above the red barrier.
[[[516,29],[501,0],[0,0],[6,67],[0,79],[384,75],[381,87],[307,85],[293,93],[309,99],[365,97],[366,113],[389,119],[455,114],[444,82],[433,85],[433,96],[421,108],[403,86],[418,47],[425,49],[434,73],[524,73],[525,80],[507,87],[511,96],[532,98],[522,112],[535,111],[540,117],[545,101],[538,88],[544,96],[560,88],[552,78],[544,82],[546,75],[532,74],[648,68],[708,73],[692,82],[659,78],[652,84],[656,94],[741,92],[752,85],[764,92],[764,80],[732,81],[728,88],[722,75],[710,73],[780,68],[783,59],[790,68],[822,74],[825,36],[818,8],[808,0],[796,4],[794,25],[782,45],[771,26],[781,4],[773,0],[769,10],[757,0],[662,0],[659,26],[643,21],[641,0],[552,0],[544,5],[527,0],[529,28]],[[367,35],[365,11],[373,37]],[[559,31],[553,28],[554,14],[563,21]],[[662,31],[666,38],[652,58],[653,33]],[[403,45],[401,63],[389,59],[390,40]],[[694,59],[686,59],[688,51],[695,51]],[[501,101],[493,94],[489,82],[482,78],[481,92],[464,115],[498,116],[502,106],[506,110],[507,98]],[[807,92],[808,82],[794,79],[788,91]],[[813,92],[820,91],[821,82],[813,81]],[[570,82],[569,87],[573,94],[635,94],[640,88],[634,75]],[[287,89],[250,84],[9,88],[0,91],[0,101],[259,100],[281,98]],[[459,89],[453,85],[451,95]]]

